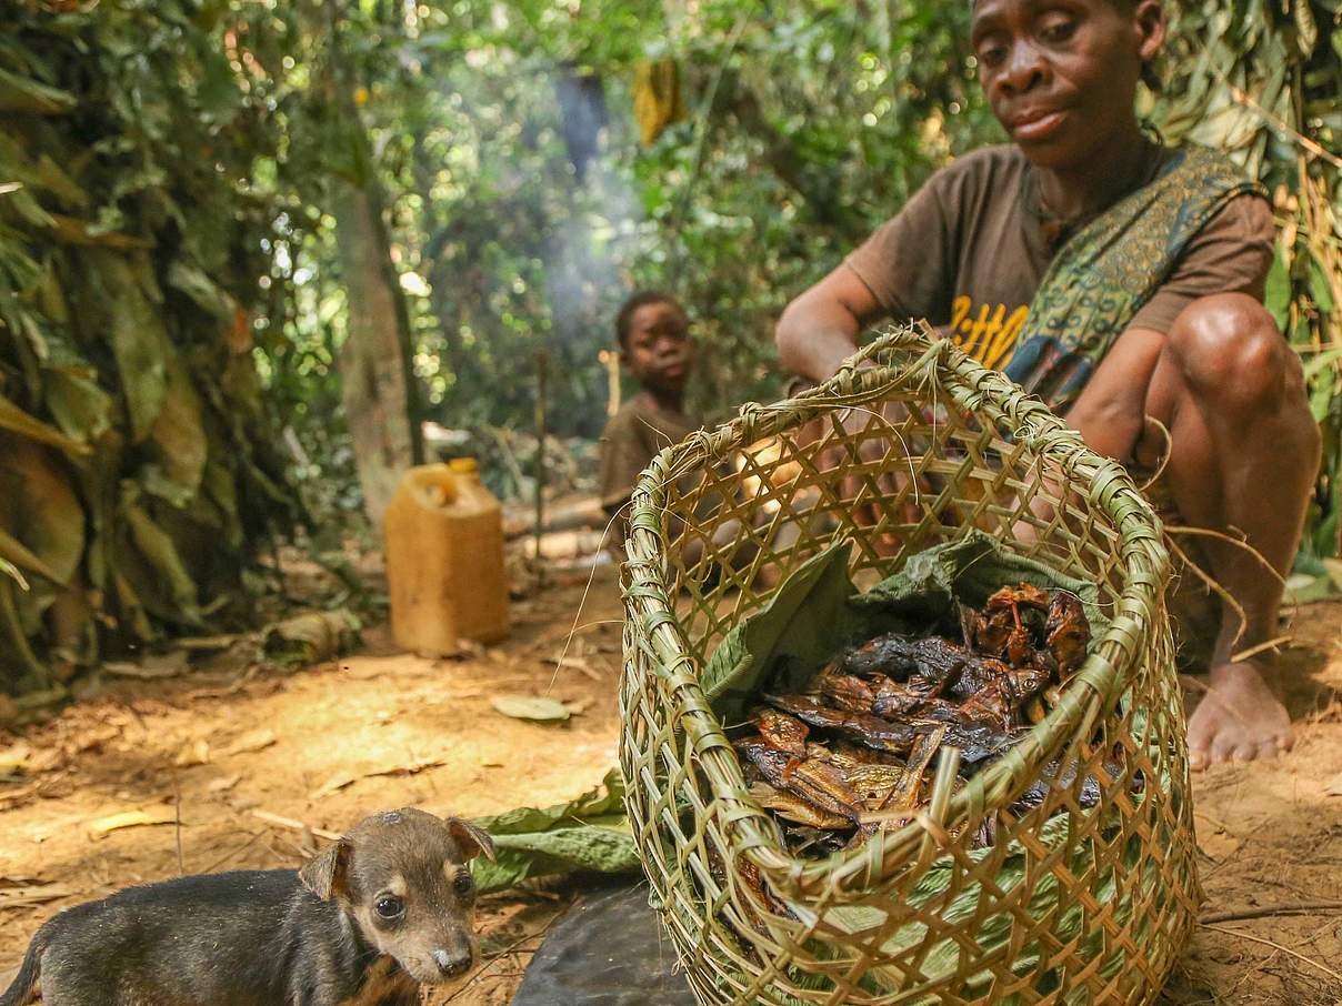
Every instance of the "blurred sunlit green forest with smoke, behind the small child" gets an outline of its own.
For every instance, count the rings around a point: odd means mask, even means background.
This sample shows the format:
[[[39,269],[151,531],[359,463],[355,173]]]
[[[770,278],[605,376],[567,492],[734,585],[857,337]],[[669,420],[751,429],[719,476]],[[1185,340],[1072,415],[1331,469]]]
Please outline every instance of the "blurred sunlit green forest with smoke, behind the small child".
[[[667,19],[662,4],[463,1],[365,4],[344,25],[428,417],[529,427],[544,349],[552,428],[595,435],[596,358],[636,286],[670,288],[695,318],[702,409],[774,397],[788,299],[953,152],[1000,138],[965,5],[709,3]],[[641,148],[631,85],[650,56],[678,62],[694,114]],[[588,115],[604,115],[600,138],[574,137]],[[311,290],[329,283],[330,245],[310,239],[295,259],[310,264],[299,298],[331,303]],[[276,369],[294,350],[329,357],[340,325],[333,304],[322,338],[286,329],[291,346],[268,343]]]

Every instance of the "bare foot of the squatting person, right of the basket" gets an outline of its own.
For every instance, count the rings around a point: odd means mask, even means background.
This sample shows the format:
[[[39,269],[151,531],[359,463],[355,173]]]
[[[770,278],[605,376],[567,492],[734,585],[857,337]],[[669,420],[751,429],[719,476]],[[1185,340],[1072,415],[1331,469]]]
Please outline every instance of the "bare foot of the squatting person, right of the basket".
[[[1208,692],[1188,720],[1193,769],[1275,758],[1291,748],[1291,718],[1259,664],[1216,664],[1209,677]]]

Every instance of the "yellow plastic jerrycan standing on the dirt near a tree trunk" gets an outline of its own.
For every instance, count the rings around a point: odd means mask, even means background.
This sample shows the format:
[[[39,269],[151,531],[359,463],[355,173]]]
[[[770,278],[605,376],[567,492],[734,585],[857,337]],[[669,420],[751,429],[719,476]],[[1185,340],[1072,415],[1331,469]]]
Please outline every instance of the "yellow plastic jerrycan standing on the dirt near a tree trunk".
[[[442,657],[507,634],[503,511],[474,459],[411,468],[382,530],[396,645]]]

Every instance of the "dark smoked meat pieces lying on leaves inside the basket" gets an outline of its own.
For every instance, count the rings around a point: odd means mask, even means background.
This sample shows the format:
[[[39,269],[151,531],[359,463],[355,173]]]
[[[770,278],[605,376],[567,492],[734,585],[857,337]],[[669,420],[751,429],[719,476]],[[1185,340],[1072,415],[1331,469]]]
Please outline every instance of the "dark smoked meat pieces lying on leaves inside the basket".
[[[884,633],[837,655],[805,688],[760,696],[756,732],[733,744],[752,797],[796,854],[851,849],[911,821],[930,799],[941,748],[958,750],[964,785],[1047,715],[1090,645],[1080,600],[1029,583],[997,590],[982,609],[962,605],[960,630],[960,641]],[[1106,763],[1083,778],[1080,807],[1121,771]],[[1075,783],[1075,769],[1051,765],[1009,810],[1028,813]],[[992,840],[988,822],[974,841]]]

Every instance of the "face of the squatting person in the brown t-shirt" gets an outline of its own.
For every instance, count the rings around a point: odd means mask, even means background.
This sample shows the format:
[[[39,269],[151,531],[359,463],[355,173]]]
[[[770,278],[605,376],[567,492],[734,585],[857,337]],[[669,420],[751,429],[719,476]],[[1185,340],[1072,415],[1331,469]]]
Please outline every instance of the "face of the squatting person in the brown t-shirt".
[[[1041,168],[1087,164],[1134,122],[1143,60],[1165,40],[1159,0],[977,0],[978,79]]]

